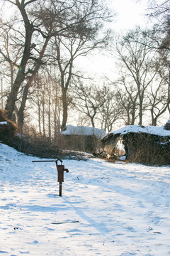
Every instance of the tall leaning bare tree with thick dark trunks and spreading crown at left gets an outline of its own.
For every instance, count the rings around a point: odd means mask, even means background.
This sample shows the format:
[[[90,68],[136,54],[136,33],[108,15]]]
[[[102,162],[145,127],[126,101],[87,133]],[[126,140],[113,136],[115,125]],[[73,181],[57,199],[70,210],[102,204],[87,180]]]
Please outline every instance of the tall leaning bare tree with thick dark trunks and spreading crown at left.
[[[21,86],[23,87],[22,102],[18,112],[19,125],[22,127],[28,90],[40,66],[45,65],[47,61],[45,50],[51,38],[55,36],[82,38],[84,35],[89,35],[89,31],[94,33],[94,28],[101,29],[100,21],[108,20],[111,15],[99,0],[4,0],[4,2],[13,4],[19,11],[23,29],[15,28],[15,32],[18,33],[16,38],[20,43],[14,43],[16,47],[21,47],[21,55],[19,64],[15,63],[18,72],[6,102],[8,118],[11,118],[18,100],[18,92]],[[13,60],[6,56],[3,48],[0,49],[0,53],[4,60],[12,63]]]

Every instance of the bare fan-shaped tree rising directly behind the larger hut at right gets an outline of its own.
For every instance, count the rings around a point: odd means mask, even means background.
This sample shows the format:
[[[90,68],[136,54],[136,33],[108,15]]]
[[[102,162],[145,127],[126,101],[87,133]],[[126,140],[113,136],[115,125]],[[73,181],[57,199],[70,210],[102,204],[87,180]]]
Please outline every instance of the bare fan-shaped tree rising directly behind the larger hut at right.
[[[131,33],[132,34],[132,33]],[[140,37],[140,32],[135,31],[135,36]],[[145,41],[145,38],[143,38]],[[123,41],[115,43],[115,51],[121,66],[121,74],[123,74],[123,85],[126,92],[128,92],[128,85],[136,88],[138,109],[139,109],[139,124],[142,124],[142,115],[145,111],[145,97],[147,93],[147,87],[154,80],[157,73],[157,69],[154,67],[154,56],[151,50],[145,46],[131,41],[130,36],[123,38]],[[131,90],[132,91],[132,90]],[[130,93],[128,93],[130,95]]]

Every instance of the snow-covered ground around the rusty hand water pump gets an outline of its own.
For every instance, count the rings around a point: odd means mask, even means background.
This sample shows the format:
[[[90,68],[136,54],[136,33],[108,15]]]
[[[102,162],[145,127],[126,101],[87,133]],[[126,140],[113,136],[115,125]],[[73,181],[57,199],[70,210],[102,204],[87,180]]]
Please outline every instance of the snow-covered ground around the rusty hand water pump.
[[[169,166],[33,160],[0,144],[0,255],[170,255]]]

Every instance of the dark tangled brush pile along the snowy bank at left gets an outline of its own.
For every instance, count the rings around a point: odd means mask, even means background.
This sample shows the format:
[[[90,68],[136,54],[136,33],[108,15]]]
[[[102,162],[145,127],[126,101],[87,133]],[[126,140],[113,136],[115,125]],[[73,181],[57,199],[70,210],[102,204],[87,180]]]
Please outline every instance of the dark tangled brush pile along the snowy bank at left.
[[[79,154],[62,151],[61,138],[52,140],[48,137],[39,136],[35,129],[24,127],[24,134],[17,134],[17,126],[6,117],[6,112],[0,109],[0,141],[12,146],[17,151],[33,156],[52,159],[77,159],[84,158]]]

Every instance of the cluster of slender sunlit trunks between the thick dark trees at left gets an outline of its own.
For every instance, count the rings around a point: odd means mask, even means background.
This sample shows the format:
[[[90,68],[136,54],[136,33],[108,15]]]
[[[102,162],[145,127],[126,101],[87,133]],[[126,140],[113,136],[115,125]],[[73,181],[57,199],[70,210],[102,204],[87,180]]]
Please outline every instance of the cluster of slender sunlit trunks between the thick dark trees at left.
[[[61,89],[54,70],[40,71],[33,82],[35,85],[30,90],[28,103],[33,107],[35,118],[37,117],[40,136],[56,139],[62,116]]]

